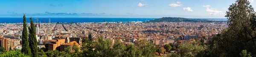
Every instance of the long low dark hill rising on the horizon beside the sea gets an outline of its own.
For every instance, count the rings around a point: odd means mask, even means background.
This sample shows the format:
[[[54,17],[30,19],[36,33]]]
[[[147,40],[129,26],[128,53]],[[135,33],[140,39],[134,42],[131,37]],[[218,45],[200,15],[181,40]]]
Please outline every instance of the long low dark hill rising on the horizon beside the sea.
[[[219,21],[209,21],[207,19],[187,19],[181,17],[163,17],[160,19],[154,19],[147,22],[219,22]]]

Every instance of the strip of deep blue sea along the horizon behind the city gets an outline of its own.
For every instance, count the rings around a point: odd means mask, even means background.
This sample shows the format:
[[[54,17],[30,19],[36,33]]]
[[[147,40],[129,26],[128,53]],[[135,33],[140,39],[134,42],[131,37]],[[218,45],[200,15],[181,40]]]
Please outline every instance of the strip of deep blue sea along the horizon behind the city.
[[[145,22],[149,20],[159,19],[159,18],[56,18],[56,17],[39,17],[39,18],[32,18],[33,22],[36,22],[38,19],[38,23],[49,23],[49,19],[51,23],[55,22],[61,22],[61,23],[83,23],[83,22]],[[45,19],[45,21],[44,21]],[[208,19],[208,20],[215,20],[215,21],[221,21],[221,20],[227,20],[227,19],[218,19],[218,18],[189,18],[189,19]],[[0,23],[22,23],[23,18],[22,17],[0,17]],[[26,22],[30,22],[29,17],[26,18]]]

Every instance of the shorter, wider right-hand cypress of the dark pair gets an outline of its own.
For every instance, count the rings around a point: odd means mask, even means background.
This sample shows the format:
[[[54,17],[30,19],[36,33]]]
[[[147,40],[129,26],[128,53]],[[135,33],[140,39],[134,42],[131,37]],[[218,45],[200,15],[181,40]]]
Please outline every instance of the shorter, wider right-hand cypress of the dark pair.
[[[38,47],[37,47],[37,40],[35,34],[35,24],[33,23],[32,17],[29,18],[30,21],[30,28],[29,28],[29,46],[32,52],[32,57],[38,57]]]

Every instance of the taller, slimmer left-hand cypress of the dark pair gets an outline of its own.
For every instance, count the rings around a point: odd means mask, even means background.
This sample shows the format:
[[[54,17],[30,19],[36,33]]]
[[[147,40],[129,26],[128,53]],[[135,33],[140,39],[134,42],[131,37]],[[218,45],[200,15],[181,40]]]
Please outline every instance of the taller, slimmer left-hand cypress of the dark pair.
[[[26,27],[26,16],[23,16],[23,32],[22,32],[22,49],[21,52],[27,55],[31,55],[31,50],[29,48],[29,40],[28,40],[28,30]]]

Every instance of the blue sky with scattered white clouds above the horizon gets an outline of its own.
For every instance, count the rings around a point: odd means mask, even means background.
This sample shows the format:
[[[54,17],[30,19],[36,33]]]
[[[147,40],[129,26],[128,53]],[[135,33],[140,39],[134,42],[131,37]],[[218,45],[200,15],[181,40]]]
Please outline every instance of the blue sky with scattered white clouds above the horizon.
[[[0,17],[225,18],[236,0],[1,0]],[[250,0],[255,8],[256,1]]]

